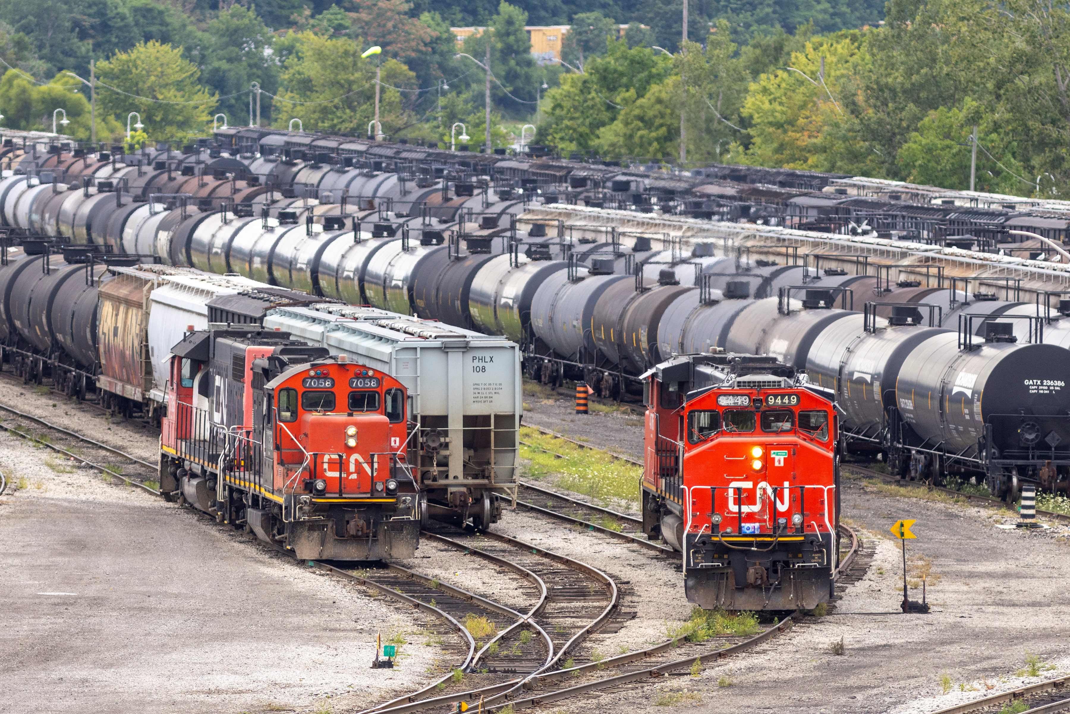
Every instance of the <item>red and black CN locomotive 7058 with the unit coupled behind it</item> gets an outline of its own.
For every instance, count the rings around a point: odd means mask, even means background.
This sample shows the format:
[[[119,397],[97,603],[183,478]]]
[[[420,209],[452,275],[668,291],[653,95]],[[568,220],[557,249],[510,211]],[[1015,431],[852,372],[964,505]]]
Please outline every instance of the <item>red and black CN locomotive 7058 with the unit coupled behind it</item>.
[[[300,559],[411,558],[426,506],[402,384],[258,325],[171,350],[160,489]]]

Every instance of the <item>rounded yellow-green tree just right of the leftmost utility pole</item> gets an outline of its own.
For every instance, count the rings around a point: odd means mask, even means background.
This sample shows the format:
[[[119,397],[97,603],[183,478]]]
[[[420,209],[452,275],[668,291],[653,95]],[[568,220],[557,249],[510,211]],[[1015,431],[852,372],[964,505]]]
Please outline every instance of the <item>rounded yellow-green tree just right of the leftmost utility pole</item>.
[[[96,70],[97,110],[121,119],[137,111],[153,139],[203,132],[215,112],[215,95],[197,83],[200,71],[182,57],[181,47],[155,40],[139,43],[97,63]]]

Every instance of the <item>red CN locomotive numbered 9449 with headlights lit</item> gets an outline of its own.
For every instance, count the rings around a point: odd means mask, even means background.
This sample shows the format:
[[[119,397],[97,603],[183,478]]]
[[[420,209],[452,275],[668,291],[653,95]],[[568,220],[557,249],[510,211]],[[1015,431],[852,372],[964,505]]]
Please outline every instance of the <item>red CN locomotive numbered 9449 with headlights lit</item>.
[[[774,358],[688,354],[644,375],[643,528],[683,552],[687,599],[795,610],[839,564],[831,392]]]

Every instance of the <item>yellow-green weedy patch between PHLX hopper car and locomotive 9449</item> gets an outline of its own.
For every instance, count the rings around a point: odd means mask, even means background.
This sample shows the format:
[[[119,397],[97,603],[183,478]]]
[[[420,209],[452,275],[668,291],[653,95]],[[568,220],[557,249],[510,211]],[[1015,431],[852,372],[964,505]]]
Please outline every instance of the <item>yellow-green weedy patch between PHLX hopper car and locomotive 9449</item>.
[[[522,427],[520,438],[532,444],[520,445],[520,456],[530,460],[525,470],[531,476],[542,478],[556,475],[557,486],[577,493],[594,499],[616,498],[638,503],[639,482],[643,476],[641,466],[614,458],[602,451],[583,449],[531,427]]]

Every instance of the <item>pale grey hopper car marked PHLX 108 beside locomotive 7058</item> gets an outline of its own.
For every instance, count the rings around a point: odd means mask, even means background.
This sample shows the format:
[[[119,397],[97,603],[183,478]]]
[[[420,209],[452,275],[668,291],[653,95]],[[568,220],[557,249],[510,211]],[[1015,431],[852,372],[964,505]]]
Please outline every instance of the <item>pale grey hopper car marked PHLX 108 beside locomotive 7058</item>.
[[[505,337],[385,310],[317,304],[270,309],[265,328],[382,369],[409,390],[409,458],[430,512],[496,521],[516,498],[520,348]]]

